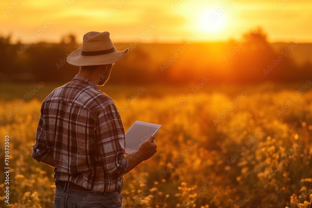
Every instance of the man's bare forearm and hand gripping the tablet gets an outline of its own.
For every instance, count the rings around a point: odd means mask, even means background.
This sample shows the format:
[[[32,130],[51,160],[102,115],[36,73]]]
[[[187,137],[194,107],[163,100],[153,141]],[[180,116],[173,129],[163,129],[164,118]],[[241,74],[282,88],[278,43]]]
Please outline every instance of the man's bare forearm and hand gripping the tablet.
[[[125,172],[128,173],[133,168],[138,166],[144,160],[149,159],[157,152],[157,144],[154,141],[155,136],[150,136],[145,142],[143,142],[140,146],[138,151],[133,152],[127,155],[128,158],[128,167]]]

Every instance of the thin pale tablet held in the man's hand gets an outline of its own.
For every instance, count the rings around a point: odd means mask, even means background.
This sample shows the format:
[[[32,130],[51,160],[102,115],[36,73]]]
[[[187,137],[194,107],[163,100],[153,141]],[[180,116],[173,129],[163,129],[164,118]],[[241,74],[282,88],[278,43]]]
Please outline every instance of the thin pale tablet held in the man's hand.
[[[143,121],[135,121],[125,133],[126,137],[126,153],[132,153],[139,149],[140,144],[146,141],[149,136],[154,135],[161,125],[147,123]]]

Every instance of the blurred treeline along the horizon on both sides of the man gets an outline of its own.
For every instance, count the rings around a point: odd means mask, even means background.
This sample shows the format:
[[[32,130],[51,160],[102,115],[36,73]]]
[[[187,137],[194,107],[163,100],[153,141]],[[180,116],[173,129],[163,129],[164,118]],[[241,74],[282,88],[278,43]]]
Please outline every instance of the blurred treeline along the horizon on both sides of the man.
[[[287,56],[287,49],[276,52],[262,29],[244,34],[240,42],[193,43],[183,53],[181,44],[116,44],[118,49],[131,47],[115,64],[110,83],[190,84],[199,83],[203,76],[223,83],[285,82],[312,76],[312,63],[299,67]],[[12,44],[11,35],[0,35],[0,79],[66,82],[78,73],[78,67],[66,62],[81,47],[74,35],[64,36],[60,43],[34,43],[17,54],[24,45]],[[161,66],[166,67],[163,72]]]

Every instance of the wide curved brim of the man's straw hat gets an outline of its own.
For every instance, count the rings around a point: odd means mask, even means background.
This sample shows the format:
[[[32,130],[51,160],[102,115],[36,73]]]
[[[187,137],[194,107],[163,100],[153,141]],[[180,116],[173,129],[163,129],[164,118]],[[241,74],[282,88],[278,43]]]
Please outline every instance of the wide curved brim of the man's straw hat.
[[[120,59],[122,55],[129,51],[127,48],[124,51],[114,51],[104,55],[98,56],[83,56],[80,54],[82,48],[78,48],[67,56],[67,63],[74,66],[94,66],[94,65],[105,65],[113,64]]]

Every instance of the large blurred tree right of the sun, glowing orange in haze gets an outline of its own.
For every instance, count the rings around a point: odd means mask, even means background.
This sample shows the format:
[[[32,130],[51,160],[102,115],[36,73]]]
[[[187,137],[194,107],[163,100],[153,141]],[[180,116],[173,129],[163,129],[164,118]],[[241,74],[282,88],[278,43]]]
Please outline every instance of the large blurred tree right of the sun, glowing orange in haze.
[[[262,29],[246,33],[230,50],[233,56],[229,60],[230,77],[234,82],[289,80],[297,67],[282,51],[273,50]]]

